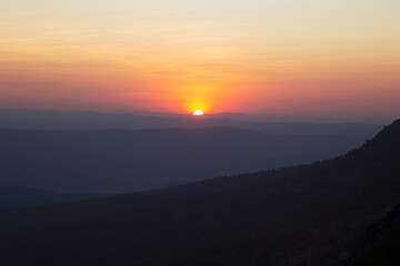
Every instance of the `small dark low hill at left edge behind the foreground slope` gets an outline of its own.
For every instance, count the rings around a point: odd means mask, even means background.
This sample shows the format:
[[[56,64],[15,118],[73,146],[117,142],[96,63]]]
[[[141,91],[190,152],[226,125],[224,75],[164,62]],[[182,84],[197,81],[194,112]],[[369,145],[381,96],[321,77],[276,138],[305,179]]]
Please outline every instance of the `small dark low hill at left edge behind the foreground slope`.
[[[101,197],[97,194],[68,194],[27,186],[1,186],[0,207],[32,206]]]

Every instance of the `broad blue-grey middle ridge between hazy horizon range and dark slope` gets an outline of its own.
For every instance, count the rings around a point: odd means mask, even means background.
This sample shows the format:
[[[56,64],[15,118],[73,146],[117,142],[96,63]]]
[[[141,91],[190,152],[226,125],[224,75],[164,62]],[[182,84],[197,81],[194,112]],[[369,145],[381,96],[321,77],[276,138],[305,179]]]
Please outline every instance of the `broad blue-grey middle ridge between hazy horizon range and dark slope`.
[[[333,157],[364,139],[230,127],[0,130],[0,185],[120,193]]]

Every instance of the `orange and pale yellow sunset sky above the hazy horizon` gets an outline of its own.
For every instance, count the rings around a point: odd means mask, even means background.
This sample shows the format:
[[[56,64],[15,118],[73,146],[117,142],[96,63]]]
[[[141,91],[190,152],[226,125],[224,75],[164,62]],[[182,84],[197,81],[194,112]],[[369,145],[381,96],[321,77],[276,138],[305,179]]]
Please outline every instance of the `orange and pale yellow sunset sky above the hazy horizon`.
[[[399,0],[0,0],[0,106],[399,116]]]

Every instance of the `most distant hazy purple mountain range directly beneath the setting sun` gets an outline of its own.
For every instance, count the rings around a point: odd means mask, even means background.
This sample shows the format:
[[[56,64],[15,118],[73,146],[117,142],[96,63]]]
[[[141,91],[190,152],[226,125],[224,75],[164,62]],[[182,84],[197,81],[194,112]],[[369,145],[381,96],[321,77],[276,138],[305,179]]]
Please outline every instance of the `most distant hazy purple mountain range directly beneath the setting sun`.
[[[240,113],[206,114],[199,117],[190,114],[56,112],[50,110],[0,110],[0,127],[58,131],[236,127],[269,134],[343,135],[363,140],[371,139],[382,129],[381,125],[360,123],[266,122],[262,119]]]

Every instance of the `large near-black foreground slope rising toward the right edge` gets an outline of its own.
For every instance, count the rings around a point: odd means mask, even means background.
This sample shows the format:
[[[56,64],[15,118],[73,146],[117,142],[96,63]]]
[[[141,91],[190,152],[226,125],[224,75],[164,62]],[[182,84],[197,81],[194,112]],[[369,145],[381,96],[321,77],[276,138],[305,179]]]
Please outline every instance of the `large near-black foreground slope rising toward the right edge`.
[[[332,161],[0,209],[4,265],[341,265],[400,202],[400,121]]]

